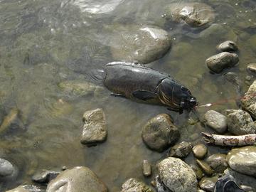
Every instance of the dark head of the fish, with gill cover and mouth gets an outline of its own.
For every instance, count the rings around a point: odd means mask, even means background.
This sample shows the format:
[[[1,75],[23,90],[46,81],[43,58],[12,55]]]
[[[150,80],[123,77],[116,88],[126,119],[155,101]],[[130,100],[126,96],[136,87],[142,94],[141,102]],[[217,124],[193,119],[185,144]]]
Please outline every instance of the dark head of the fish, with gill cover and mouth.
[[[169,78],[161,82],[159,95],[161,102],[171,109],[190,111],[198,105],[188,88]]]

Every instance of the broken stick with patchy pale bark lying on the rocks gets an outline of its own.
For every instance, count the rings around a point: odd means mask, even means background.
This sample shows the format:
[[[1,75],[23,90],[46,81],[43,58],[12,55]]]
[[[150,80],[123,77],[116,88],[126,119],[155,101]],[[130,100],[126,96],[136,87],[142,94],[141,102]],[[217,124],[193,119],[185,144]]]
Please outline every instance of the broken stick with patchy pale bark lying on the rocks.
[[[245,146],[256,142],[256,134],[244,134],[239,136],[201,133],[206,144],[215,144],[220,146]]]

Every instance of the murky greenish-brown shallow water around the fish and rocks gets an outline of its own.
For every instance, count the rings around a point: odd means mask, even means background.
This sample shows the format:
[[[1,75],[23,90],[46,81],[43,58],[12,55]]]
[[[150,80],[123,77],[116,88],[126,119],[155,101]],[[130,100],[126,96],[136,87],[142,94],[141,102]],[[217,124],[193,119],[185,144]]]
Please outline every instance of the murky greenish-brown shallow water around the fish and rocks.
[[[0,191],[31,183],[31,176],[38,170],[62,166],[88,166],[110,192],[119,191],[127,178],[145,181],[143,159],[155,164],[166,156],[166,152],[147,149],[142,142],[142,127],[151,117],[163,112],[171,114],[181,129],[180,141],[196,144],[201,142],[200,132],[210,131],[200,123],[188,124],[186,114],[111,97],[105,87],[97,94],[83,96],[60,89],[59,83],[65,80],[102,86],[97,73],[113,61],[110,40],[116,33],[115,26],[164,28],[173,38],[171,51],[149,66],[182,82],[200,104],[231,99],[211,109],[238,109],[234,98],[240,97],[240,92],[223,78],[223,73],[237,73],[242,92],[255,79],[246,67],[256,61],[256,2],[202,1],[212,6],[216,14],[215,24],[205,29],[166,23],[161,16],[164,7],[182,2],[185,1],[0,1],[0,120],[12,109],[18,110],[18,122],[1,132],[0,155],[19,170],[15,181],[0,183]],[[213,75],[205,60],[217,53],[215,46],[225,40],[238,43],[239,65]],[[250,82],[245,82],[247,75],[252,76]],[[107,142],[87,148],[80,144],[82,114],[98,107],[107,116]],[[201,108],[198,112],[203,115],[206,110]],[[218,147],[209,150],[209,154],[227,151]],[[193,157],[188,156],[186,162],[192,163]]]

